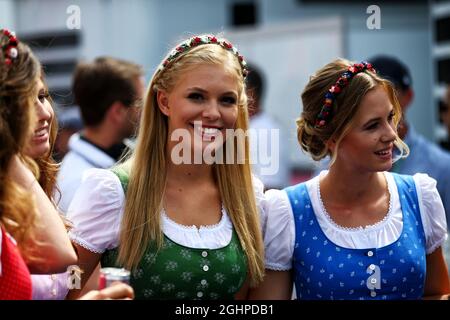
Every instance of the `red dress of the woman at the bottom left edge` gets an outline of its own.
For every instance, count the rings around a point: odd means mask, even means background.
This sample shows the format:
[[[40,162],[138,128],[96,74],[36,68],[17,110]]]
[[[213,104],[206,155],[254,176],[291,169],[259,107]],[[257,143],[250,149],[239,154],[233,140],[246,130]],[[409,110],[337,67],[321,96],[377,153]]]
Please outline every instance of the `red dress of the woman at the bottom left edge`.
[[[31,300],[31,276],[17,246],[1,228],[0,300]]]

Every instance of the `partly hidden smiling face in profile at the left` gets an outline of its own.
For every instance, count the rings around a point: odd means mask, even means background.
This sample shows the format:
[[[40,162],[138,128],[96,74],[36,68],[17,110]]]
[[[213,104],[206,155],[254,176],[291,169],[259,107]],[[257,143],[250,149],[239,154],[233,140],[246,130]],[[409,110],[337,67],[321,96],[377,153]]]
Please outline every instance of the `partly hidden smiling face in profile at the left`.
[[[41,79],[37,80],[38,95],[35,101],[36,120],[35,130],[32,133],[30,144],[26,148],[26,154],[33,159],[44,156],[50,151],[50,128],[54,111],[50,102],[47,88]]]

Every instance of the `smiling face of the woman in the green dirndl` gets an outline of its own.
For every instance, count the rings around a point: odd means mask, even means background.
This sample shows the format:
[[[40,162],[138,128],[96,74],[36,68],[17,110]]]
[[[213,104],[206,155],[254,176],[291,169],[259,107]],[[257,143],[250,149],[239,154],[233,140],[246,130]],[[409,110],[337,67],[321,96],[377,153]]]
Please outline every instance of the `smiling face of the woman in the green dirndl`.
[[[168,117],[169,137],[184,129],[192,142],[202,142],[201,146],[192,143],[192,148],[220,147],[226,129],[233,129],[238,118],[238,92],[236,76],[220,65],[187,69],[171,92],[158,91],[159,108]]]

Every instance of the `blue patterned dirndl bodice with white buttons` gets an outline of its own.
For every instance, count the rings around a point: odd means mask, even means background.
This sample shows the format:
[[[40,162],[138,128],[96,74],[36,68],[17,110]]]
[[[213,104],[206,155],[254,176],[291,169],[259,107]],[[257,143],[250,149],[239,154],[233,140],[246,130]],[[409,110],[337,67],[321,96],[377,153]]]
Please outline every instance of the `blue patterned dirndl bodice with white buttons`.
[[[322,231],[304,183],[286,188],[295,220],[298,299],[420,299],[426,274],[425,234],[411,176],[393,174],[403,215],[400,237],[382,248],[349,249]]]

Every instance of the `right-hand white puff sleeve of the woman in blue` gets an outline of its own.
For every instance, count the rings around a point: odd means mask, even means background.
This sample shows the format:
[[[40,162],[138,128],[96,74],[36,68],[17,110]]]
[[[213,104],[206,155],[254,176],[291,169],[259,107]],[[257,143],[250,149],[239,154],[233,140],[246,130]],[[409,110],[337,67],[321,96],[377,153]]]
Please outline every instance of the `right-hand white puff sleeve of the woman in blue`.
[[[447,221],[441,197],[436,189],[436,180],[427,174],[414,175],[420,216],[425,231],[426,252],[432,253],[442,246],[447,237]]]

